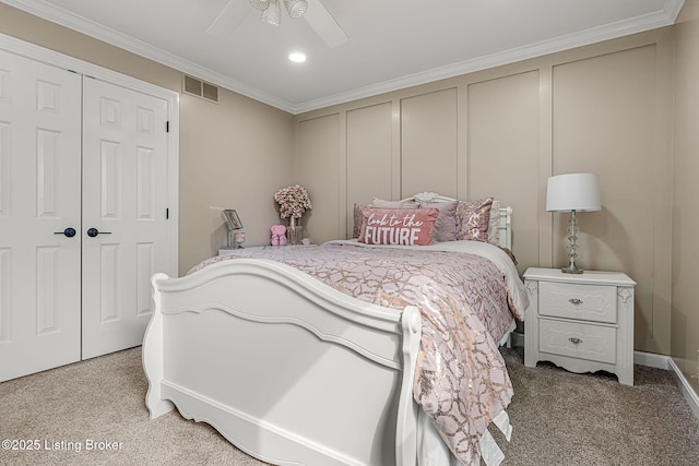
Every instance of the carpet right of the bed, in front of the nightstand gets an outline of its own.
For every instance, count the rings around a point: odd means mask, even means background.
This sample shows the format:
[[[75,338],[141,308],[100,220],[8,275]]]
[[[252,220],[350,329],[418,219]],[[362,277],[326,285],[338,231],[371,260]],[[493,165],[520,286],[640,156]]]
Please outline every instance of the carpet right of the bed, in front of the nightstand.
[[[699,421],[668,371],[635,366],[626,386],[502,353],[514,386],[503,465],[699,465]]]

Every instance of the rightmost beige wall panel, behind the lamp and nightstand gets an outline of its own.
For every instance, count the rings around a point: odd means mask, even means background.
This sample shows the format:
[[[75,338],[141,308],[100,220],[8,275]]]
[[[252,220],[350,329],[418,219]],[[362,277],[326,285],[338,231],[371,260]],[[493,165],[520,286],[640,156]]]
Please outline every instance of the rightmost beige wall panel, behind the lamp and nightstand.
[[[580,216],[583,268],[637,282],[635,340],[670,350],[672,157],[670,83],[659,47],[647,45],[553,69],[554,174],[599,175],[603,210]],[[670,63],[667,63],[670,65]],[[554,216],[554,263],[566,258],[568,215]]]

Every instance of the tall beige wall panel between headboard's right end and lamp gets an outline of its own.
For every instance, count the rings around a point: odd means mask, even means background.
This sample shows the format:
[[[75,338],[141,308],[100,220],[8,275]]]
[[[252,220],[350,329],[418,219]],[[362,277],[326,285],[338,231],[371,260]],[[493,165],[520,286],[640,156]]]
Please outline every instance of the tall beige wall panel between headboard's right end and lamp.
[[[467,85],[469,199],[497,195],[514,210],[512,248],[520,273],[540,260],[540,73]],[[493,174],[497,174],[494,177]]]

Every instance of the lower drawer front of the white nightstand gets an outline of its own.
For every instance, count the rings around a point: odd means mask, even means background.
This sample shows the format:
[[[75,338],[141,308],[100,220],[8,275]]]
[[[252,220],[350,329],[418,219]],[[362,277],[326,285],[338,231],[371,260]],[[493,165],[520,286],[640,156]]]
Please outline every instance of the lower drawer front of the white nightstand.
[[[614,363],[616,328],[541,319],[538,350],[554,355]]]

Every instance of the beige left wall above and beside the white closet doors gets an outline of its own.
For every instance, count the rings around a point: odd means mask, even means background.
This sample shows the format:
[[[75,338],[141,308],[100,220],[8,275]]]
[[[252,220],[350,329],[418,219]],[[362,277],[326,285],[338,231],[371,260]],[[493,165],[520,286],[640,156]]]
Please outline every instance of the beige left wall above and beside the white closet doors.
[[[181,91],[182,74],[0,3],[0,33],[162,87]],[[223,246],[221,208],[236,208],[249,244],[279,222],[274,192],[292,180],[292,116],[221,89],[218,105],[180,95],[179,272]]]

